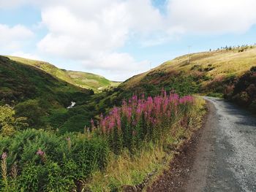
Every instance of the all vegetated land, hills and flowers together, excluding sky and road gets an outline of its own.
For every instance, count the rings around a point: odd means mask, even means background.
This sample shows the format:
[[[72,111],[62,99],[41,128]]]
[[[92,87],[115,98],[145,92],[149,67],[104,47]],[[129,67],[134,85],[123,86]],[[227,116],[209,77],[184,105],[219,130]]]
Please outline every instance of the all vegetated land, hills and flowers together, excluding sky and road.
[[[0,56],[0,191],[121,191],[165,169],[200,128],[205,102],[187,95],[256,109],[251,46],[184,55],[114,88],[94,74],[10,58]],[[170,94],[158,96],[162,89]]]

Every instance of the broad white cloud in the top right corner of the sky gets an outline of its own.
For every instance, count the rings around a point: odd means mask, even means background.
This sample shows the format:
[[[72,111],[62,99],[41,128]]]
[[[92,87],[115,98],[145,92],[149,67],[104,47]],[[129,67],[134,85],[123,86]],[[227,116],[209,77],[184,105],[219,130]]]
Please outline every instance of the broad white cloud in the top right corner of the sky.
[[[255,0],[169,0],[170,25],[195,34],[247,31],[256,23]]]

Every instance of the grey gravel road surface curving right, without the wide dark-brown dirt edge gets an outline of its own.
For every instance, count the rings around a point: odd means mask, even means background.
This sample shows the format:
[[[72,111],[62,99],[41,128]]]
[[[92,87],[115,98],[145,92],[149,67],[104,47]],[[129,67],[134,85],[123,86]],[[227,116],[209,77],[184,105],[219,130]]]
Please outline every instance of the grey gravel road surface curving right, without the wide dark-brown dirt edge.
[[[184,191],[256,191],[256,118],[205,97],[208,118]]]

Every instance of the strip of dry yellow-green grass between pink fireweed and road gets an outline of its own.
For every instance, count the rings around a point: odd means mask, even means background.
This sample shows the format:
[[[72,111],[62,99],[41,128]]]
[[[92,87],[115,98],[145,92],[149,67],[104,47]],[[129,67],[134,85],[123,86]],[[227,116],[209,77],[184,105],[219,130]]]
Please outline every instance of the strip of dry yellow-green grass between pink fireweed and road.
[[[105,172],[94,172],[91,180],[84,184],[84,188],[90,191],[124,191],[138,185],[146,185],[145,180],[151,183],[167,168],[173,155],[177,153],[176,150],[201,128],[202,118],[206,112],[205,104],[203,99],[195,99],[195,104],[189,112],[190,120],[187,126],[181,125],[181,121],[177,120],[171,126],[165,140],[146,143],[132,156],[127,150],[117,157],[111,154]]]

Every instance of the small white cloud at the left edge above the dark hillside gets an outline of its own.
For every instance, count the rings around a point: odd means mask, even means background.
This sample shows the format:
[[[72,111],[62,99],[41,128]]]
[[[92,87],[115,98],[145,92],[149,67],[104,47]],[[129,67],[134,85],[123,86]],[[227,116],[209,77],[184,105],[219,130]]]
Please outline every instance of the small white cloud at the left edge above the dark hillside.
[[[3,50],[16,50],[33,36],[29,28],[21,25],[10,27],[0,24],[0,34],[0,48]]]

